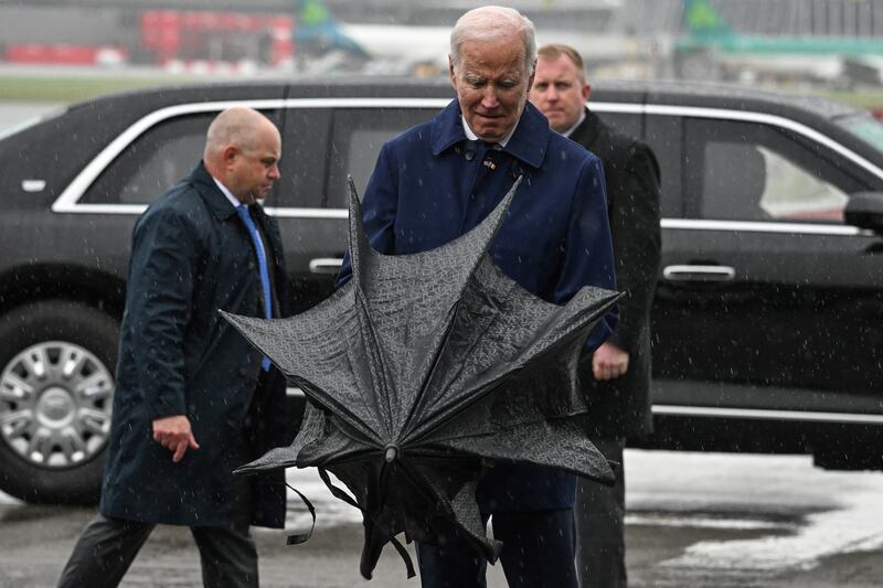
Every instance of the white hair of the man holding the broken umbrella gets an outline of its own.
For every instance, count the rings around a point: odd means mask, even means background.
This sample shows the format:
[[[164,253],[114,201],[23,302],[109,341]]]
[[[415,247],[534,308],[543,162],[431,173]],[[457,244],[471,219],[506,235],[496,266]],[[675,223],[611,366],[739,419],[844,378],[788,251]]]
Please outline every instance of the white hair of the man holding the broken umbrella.
[[[533,73],[536,62],[536,30],[533,22],[513,8],[488,6],[470,10],[457,20],[450,31],[450,60],[460,63],[460,46],[467,41],[497,41],[519,33],[524,41],[524,70]]]

